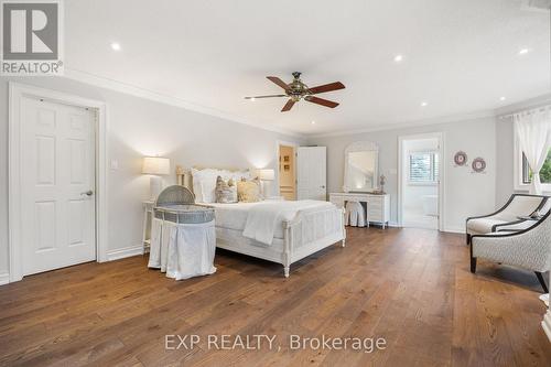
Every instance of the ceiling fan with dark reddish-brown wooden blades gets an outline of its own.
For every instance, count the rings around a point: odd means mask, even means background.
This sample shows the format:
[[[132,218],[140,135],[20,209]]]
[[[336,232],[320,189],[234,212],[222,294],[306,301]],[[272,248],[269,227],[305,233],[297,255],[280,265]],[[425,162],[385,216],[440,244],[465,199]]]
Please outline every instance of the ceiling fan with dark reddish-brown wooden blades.
[[[287,84],[285,82],[281,80],[277,76],[267,76],[267,78],[279,85],[283,90],[285,91],[284,95],[271,95],[271,96],[255,96],[255,97],[245,97],[245,99],[251,99],[255,100],[257,98],[276,98],[276,97],[289,97],[289,100],[287,101],[285,106],[281,109],[282,112],[289,111],[291,108],[293,108],[294,104],[300,101],[301,99],[304,99],[309,102],[316,104],[316,105],[322,105],[325,107],[329,108],[335,108],[338,106],[337,102],[334,102],[332,100],[323,99],[320,97],[315,97],[314,95],[317,95],[320,93],[326,93],[326,91],[333,91],[333,90],[338,90],[338,89],[344,89],[345,86],[341,82],[335,82],[335,83],[329,83],[329,84],[324,84],[317,87],[309,88],[307,85],[302,83],[301,80],[301,73],[294,72],[293,73],[293,82]]]

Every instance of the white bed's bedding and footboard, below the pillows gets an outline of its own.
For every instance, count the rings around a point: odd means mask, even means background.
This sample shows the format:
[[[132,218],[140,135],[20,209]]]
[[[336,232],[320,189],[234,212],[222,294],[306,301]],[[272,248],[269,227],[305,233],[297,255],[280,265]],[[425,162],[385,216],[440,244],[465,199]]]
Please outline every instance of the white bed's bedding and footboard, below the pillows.
[[[188,180],[179,179],[179,182],[193,190]],[[216,247],[281,263],[285,278],[293,262],[337,242],[345,246],[344,212],[328,202],[268,199],[204,204],[215,208]],[[270,244],[244,236],[249,216],[258,212],[264,212],[274,220]]]

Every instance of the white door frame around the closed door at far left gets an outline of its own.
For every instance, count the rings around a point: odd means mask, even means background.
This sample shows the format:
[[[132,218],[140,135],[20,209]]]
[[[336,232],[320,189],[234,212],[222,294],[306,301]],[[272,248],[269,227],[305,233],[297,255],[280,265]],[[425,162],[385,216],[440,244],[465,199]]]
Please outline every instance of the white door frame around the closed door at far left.
[[[26,84],[9,83],[9,125],[8,125],[8,242],[10,258],[10,282],[23,279],[23,255],[21,244],[21,111],[23,98],[37,98],[47,101],[95,109],[97,112],[95,131],[96,166],[96,261],[107,261],[107,104],[100,100],[83,98],[57,90],[40,88]]]

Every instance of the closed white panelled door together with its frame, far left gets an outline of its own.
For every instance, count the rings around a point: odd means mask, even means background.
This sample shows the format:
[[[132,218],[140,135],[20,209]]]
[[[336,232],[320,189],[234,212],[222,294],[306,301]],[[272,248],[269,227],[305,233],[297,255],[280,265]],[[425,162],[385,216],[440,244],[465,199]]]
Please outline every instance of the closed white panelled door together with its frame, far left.
[[[10,282],[108,260],[106,104],[9,89]]]

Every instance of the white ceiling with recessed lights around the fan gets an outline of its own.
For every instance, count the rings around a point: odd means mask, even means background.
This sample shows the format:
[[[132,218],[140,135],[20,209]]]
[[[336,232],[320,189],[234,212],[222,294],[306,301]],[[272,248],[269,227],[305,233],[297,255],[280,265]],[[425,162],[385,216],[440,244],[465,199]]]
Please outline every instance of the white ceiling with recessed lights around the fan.
[[[521,2],[66,1],[65,65],[266,128],[403,126],[549,93],[549,13]],[[280,93],[266,76],[290,82],[294,71],[309,86],[343,82],[320,95],[341,106],[301,101],[280,112],[285,99],[242,98]]]

